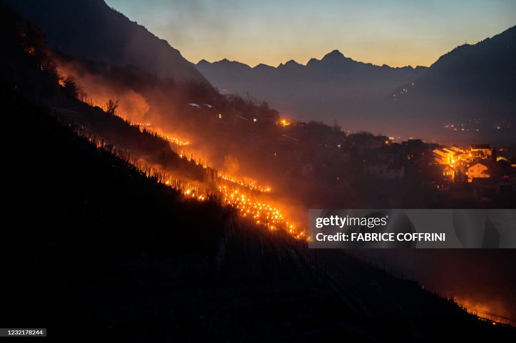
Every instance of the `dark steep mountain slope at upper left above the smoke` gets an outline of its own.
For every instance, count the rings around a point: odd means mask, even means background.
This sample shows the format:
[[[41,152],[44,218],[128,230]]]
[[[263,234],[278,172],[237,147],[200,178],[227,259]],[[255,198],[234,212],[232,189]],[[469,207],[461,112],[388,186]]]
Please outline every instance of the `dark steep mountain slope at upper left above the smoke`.
[[[181,53],[103,0],[7,0],[43,28],[63,53],[98,62],[130,64],[158,77],[208,83]]]

